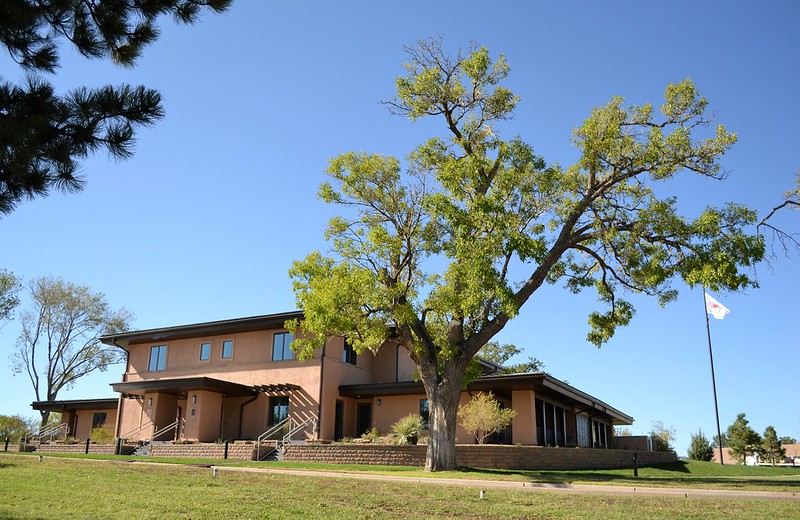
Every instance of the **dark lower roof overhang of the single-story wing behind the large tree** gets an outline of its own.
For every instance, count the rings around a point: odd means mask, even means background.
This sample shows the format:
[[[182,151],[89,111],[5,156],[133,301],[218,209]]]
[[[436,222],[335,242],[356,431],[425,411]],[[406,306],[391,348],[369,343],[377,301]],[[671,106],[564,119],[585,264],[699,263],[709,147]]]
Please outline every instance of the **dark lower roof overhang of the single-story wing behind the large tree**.
[[[472,392],[493,392],[498,397],[511,399],[515,390],[533,390],[537,395],[549,397],[564,404],[571,404],[579,411],[589,415],[606,415],[616,425],[633,424],[633,417],[625,414],[603,401],[582,392],[558,379],[545,374],[508,374],[484,376],[467,386]],[[339,394],[343,397],[372,398],[381,396],[424,394],[425,388],[419,381],[397,383],[378,383],[362,385],[343,385]]]

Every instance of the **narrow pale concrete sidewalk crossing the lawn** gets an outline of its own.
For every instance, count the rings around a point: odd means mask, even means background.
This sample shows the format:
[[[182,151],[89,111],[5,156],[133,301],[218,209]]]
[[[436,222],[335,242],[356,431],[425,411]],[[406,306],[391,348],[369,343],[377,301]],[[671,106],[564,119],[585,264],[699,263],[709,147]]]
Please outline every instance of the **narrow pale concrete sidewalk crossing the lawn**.
[[[550,491],[556,493],[574,493],[589,495],[622,495],[622,496],[662,496],[683,498],[727,498],[727,499],[765,499],[765,500],[798,500],[800,494],[780,491],[733,491],[727,489],[697,489],[672,487],[643,486],[600,486],[587,484],[546,484],[536,482],[472,480],[433,477],[401,477],[395,475],[375,475],[370,473],[345,473],[335,471],[309,471],[276,468],[246,468],[231,466],[212,466],[220,473],[268,473],[279,475],[303,475],[320,478],[347,478],[360,480],[377,480],[384,482],[405,482],[409,484],[433,484],[440,486],[472,487],[480,490],[517,489],[522,491]]]

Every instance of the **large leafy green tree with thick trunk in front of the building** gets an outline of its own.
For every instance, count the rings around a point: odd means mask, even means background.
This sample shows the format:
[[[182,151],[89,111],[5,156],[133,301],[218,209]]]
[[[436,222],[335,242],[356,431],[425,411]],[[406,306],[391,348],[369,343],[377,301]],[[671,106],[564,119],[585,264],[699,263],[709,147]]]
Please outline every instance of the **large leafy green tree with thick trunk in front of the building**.
[[[501,137],[518,102],[502,85],[505,58],[485,48],[450,56],[441,43],[407,49],[387,105],[412,121],[438,119],[446,136],[405,161],[333,158],[320,188],[342,211],[328,226],[332,251],[290,271],[305,311],[301,356],[329,335],[347,335],[358,350],[391,340],[409,352],[430,402],[430,471],[455,467],[456,410],[473,357],[545,283],[597,292],[603,309],[589,316],[588,339],[599,346],[634,314],[625,292],[664,304],[676,279],[742,289],[754,285],[742,266],[764,251],[746,232],[753,211],[729,204],[690,219],[652,189],[687,172],[724,177],[719,157],[736,136],[709,131],[691,81],[669,85],[660,110],[622,98],[595,109],[573,136],[580,158],[561,168],[521,138]]]

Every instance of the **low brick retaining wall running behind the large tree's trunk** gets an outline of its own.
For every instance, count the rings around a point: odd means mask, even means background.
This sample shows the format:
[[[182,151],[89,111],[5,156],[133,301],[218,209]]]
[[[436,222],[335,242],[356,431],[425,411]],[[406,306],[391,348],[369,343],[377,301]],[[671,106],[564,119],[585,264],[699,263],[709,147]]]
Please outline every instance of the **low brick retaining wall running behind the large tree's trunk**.
[[[287,462],[424,466],[425,446],[292,445]],[[614,469],[633,467],[633,451],[474,444],[456,447],[460,466],[491,469]],[[636,452],[640,466],[673,462],[671,453]]]

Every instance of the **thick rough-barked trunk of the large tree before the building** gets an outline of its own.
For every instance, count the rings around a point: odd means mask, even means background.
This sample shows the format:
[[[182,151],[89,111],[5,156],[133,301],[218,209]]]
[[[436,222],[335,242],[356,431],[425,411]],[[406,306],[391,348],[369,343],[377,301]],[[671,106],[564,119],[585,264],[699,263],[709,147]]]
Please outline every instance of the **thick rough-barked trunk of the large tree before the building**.
[[[461,399],[463,373],[449,370],[438,383],[425,382],[430,413],[428,452],[425,456],[425,471],[447,471],[456,469],[456,416]]]

